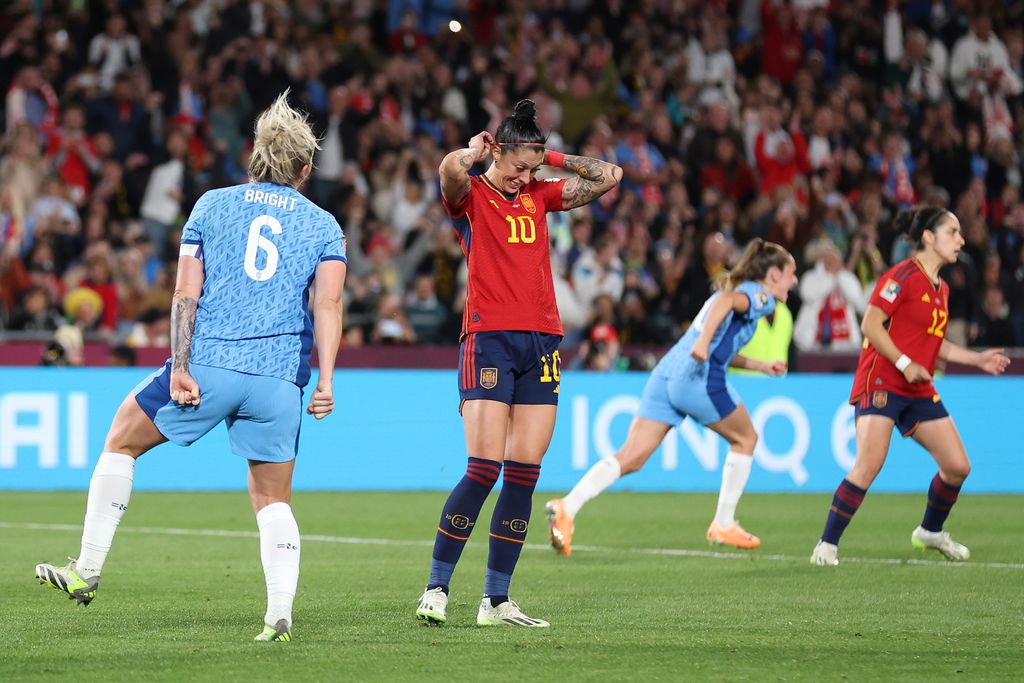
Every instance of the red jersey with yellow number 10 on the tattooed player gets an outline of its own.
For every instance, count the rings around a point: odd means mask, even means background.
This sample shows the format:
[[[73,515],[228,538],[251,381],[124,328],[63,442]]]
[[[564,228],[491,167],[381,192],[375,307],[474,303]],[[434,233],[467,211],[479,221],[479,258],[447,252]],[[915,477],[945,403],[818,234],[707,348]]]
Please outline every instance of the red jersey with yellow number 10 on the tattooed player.
[[[562,210],[564,178],[532,180],[509,196],[482,175],[456,206],[455,221],[469,267],[462,335],[525,330],[562,334],[551,283],[547,213]]]

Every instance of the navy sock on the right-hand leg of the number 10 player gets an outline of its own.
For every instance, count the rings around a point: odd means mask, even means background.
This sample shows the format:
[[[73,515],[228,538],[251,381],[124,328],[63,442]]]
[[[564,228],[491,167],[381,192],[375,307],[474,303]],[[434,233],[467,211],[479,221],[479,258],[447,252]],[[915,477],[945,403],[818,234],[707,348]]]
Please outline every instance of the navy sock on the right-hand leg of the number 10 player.
[[[487,578],[483,583],[483,594],[490,597],[493,607],[508,600],[512,572],[519,561],[522,545],[526,543],[534,489],[540,475],[540,465],[505,461],[502,493],[490,518],[490,552]]]

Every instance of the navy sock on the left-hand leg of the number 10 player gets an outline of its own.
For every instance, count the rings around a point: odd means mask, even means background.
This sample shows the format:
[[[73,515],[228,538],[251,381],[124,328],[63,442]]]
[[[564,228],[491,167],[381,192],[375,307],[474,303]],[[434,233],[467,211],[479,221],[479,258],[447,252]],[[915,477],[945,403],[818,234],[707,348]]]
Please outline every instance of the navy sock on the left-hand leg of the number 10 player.
[[[430,580],[427,589],[440,587],[447,593],[452,573],[459,562],[462,549],[476,525],[483,502],[498,481],[502,464],[493,460],[470,458],[466,474],[452,489],[441,510],[434,539],[434,554],[430,562]]]

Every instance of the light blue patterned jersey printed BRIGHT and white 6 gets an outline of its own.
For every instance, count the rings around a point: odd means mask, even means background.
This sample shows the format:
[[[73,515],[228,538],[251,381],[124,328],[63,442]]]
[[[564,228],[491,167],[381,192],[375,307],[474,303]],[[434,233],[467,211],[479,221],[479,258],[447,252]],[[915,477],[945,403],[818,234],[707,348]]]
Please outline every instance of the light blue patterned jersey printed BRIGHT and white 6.
[[[309,381],[309,285],[322,261],[347,262],[341,226],[287,185],[247,183],[203,195],[181,232],[203,260],[191,362]]]

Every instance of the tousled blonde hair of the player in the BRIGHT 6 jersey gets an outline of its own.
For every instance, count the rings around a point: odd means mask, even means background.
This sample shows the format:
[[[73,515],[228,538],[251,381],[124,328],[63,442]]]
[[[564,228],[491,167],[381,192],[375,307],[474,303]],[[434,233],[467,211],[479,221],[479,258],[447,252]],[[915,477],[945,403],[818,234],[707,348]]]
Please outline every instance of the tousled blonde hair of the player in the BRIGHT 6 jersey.
[[[294,184],[302,167],[313,165],[319,142],[306,117],[288,104],[288,90],[256,120],[249,177],[253,182]]]

